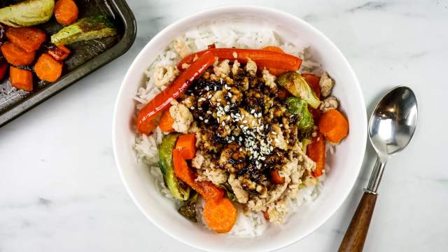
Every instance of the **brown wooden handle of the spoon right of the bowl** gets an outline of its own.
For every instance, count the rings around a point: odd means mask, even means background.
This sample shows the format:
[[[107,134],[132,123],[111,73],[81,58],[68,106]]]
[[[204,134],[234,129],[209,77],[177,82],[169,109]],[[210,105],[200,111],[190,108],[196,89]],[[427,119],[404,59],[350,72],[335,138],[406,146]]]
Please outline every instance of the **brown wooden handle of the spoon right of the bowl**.
[[[351,223],[347,228],[344,239],[342,239],[341,246],[339,246],[339,252],[363,251],[375,202],[377,202],[377,195],[364,193],[353,218],[351,218]]]

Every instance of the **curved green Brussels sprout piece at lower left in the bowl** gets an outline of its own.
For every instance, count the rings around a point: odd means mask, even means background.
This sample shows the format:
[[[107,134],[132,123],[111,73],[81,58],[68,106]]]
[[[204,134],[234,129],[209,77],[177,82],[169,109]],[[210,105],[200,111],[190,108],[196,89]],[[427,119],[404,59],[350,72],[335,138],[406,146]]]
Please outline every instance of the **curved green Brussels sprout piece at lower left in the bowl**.
[[[188,200],[190,197],[190,187],[176,179],[174,175],[173,154],[179,134],[169,134],[165,136],[159,148],[159,168],[162,172],[165,185],[177,200]]]

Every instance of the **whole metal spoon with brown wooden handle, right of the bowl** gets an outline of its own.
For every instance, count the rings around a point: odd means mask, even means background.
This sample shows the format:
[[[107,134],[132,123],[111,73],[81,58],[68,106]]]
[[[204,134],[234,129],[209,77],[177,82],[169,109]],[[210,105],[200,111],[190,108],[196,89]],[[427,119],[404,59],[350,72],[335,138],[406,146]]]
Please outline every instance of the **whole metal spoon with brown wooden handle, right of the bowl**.
[[[369,121],[369,138],[377,151],[377,162],[339,251],[363,251],[384,166],[392,155],[402,151],[409,144],[416,123],[417,102],[414,92],[409,87],[393,88],[375,107]]]

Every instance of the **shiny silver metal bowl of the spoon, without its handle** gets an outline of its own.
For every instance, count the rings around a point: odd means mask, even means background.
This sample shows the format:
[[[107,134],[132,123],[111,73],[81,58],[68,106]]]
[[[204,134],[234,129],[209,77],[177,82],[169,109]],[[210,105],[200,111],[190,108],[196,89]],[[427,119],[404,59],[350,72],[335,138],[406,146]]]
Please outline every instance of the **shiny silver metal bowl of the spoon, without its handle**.
[[[417,122],[417,102],[409,87],[395,87],[375,107],[369,121],[369,138],[385,162],[409,144]]]

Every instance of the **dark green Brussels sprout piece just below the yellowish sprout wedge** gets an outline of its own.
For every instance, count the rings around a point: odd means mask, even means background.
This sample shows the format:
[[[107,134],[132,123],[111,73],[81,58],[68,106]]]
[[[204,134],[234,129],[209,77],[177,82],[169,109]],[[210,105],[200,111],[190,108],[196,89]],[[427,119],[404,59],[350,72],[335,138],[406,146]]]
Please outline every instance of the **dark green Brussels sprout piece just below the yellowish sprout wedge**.
[[[288,97],[286,99],[289,113],[299,116],[298,128],[300,139],[310,139],[314,130],[314,119],[308,111],[308,104],[303,99]]]

